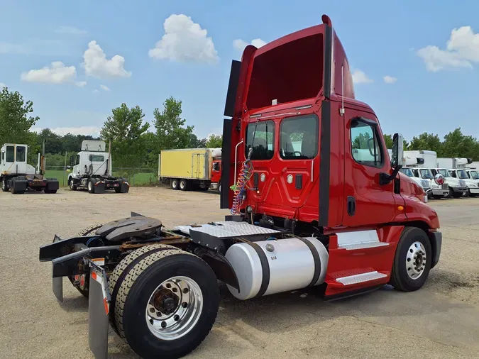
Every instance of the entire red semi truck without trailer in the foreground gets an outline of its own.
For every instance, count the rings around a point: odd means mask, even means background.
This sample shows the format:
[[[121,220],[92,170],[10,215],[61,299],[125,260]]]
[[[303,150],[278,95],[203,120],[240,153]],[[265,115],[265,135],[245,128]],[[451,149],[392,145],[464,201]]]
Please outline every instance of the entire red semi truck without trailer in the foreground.
[[[216,319],[217,280],[240,300],[426,282],[441,253],[438,216],[399,172],[402,136],[390,158],[375,112],[355,99],[346,53],[322,20],[233,62],[221,159],[231,216],[168,229],[131,214],[40,248],[55,296],[68,277],[89,297],[97,358],[109,323],[142,358],[191,352]]]

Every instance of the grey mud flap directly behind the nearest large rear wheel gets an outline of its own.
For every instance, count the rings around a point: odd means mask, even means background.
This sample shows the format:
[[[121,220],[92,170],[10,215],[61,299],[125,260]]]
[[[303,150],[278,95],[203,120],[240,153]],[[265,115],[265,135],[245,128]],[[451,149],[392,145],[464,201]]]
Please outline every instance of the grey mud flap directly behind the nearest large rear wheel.
[[[108,279],[92,264],[88,299],[88,343],[95,358],[108,358],[109,302]]]

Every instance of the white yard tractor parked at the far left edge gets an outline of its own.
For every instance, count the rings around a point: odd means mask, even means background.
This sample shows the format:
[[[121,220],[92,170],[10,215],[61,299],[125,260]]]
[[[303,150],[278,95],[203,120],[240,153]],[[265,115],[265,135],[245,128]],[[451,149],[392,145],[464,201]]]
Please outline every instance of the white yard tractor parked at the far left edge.
[[[43,143],[45,154],[45,143]],[[46,194],[57,193],[59,183],[56,178],[47,178],[45,174],[45,155],[38,153],[37,167],[28,165],[28,145],[5,143],[0,150],[0,182],[3,192],[23,194],[28,189],[43,191]]]

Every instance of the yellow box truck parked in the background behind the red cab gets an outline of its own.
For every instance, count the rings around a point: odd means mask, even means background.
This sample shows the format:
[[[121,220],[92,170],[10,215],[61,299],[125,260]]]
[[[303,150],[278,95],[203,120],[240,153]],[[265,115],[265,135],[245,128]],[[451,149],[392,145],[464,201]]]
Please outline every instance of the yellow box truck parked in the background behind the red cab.
[[[172,189],[199,187],[207,190],[211,185],[212,164],[218,158],[221,158],[221,149],[162,150],[158,159],[158,178],[160,182],[170,184]],[[217,187],[216,183],[214,187]]]

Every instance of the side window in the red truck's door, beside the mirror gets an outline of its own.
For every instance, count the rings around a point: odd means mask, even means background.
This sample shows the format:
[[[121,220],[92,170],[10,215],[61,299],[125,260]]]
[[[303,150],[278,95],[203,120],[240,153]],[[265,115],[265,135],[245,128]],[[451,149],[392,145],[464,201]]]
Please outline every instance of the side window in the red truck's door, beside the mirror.
[[[351,121],[351,153],[360,165],[381,168],[384,165],[377,126],[370,120]]]

